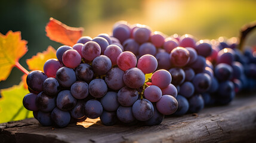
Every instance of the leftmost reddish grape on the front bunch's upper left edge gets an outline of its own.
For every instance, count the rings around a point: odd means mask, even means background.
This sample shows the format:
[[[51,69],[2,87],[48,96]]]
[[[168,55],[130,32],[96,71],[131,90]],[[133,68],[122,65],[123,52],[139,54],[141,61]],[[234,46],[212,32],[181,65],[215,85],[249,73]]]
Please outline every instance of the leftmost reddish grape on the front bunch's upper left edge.
[[[63,64],[60,61],[55,58],[51,58],[44,63],[44,73],[48,77],[55,78],[57,70],[61,67],[63,67]]]

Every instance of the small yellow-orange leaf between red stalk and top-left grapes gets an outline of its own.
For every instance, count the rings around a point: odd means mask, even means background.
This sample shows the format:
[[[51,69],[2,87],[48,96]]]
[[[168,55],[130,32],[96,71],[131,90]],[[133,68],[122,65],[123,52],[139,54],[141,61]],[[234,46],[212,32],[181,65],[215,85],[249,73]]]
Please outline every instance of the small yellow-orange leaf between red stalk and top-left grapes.
[[[50,58],[57,58],[56,50],[53,46],[48,46],[47,51],[38,52],[38,54],[33,55],[32,58],[26,60],[26,63],[30,70],[44,71],[44,63]]]

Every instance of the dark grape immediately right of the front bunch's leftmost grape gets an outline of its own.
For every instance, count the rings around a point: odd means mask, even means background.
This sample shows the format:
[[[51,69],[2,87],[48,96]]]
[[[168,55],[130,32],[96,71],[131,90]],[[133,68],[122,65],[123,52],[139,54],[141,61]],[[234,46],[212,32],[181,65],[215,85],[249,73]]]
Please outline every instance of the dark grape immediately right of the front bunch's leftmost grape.
[[[52,111],[53,108],[56,106],[55,97],[49,96],[45,94],[45,92],[40,92],[36,97],[36,105],[41,111]]]

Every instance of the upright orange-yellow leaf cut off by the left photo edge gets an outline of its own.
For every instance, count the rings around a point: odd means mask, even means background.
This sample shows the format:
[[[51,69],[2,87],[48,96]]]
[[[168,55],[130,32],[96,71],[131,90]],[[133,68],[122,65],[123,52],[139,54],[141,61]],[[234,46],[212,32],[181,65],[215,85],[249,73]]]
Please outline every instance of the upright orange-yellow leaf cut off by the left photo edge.
[[[6,80],[18,60],[27,52],[27,41],[21,40],[20,32],[0,33],[0,81]]]

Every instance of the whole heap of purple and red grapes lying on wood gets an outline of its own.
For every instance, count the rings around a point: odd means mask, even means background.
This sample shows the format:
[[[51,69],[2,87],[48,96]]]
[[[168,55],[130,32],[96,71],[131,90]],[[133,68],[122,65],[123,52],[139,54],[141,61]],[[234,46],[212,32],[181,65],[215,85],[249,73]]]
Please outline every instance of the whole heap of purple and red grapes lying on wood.
[[[82,36],[60,46],[44,72],[31,71],[23,105],[43,126],[63,128],[87,117],[104,125],[159,125],[166,115],[228,104],[256,85],[255,53],[242,54],[237,45],[118,21],[111,36]]]

